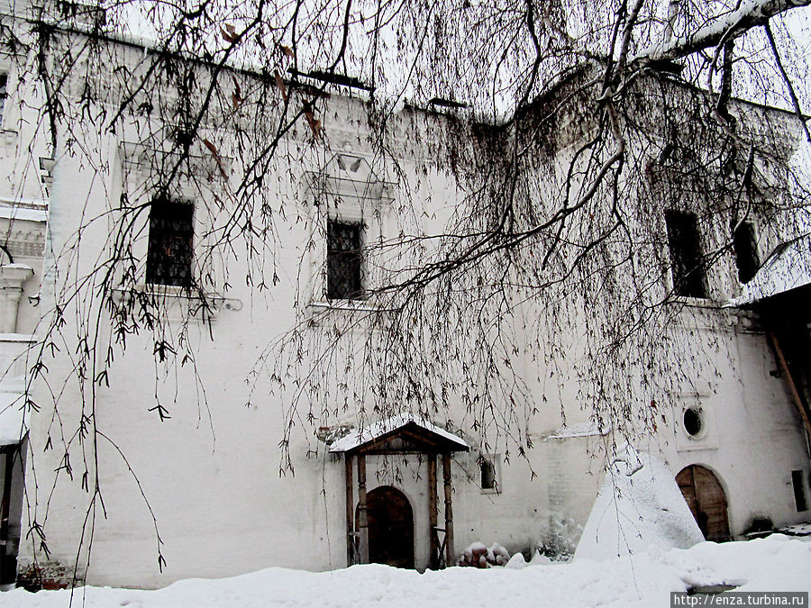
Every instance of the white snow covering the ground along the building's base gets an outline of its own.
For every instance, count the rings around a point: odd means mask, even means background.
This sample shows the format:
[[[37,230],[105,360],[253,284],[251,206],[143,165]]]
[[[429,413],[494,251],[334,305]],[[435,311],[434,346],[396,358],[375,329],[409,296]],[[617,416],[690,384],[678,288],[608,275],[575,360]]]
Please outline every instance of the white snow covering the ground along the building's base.
[[[606,561],[578,559],[479,570],[451,567],[418,574],[369,565],[333,572],[269,568],[219,580],[179,581],[157,591],[85,587],[74,605],[88,608],[222,608],[233,606],[668,606],[670,591],[727,583],[739,591],[811,591],[811,542],[766,539],[692,549],[648,549]],[[63,608],[68,591],[0,594],[0,606]]]

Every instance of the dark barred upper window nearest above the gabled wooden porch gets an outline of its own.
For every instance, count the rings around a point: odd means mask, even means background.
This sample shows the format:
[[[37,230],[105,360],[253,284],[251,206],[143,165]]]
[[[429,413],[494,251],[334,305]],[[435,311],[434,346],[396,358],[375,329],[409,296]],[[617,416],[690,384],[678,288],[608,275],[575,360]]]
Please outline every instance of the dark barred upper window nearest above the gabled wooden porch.
[[[356,300],[363,295],[360,223],[327,222],[327,297]]]

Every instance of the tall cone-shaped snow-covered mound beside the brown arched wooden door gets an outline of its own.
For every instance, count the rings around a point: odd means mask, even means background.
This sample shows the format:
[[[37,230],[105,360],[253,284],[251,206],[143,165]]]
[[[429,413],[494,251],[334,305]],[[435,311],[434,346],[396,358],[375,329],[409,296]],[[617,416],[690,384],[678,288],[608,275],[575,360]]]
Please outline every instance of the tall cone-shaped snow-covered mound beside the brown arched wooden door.
[[[575,559],[605,560],[649,547],[687,549],[704,540],[661,458],[626,448],[609,467]]]

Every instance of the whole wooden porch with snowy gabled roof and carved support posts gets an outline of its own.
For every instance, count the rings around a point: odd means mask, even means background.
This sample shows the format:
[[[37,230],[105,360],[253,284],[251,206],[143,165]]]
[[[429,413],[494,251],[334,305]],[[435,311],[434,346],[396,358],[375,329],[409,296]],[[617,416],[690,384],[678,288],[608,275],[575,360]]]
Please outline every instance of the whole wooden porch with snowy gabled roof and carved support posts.
[[[428,465],[428,567],[451,564],[453,552],[453,508],[451,504],[451,452],[468,451],[456,435],[412,414],[394,416],[350,433],[333,443],[330,451],[344,455],[346,470],[346,560],[347,566],[369,563],[369,520],[366,503],[367,455],[424,454]],[[445,527],[437,526],[436,461],[442,456],[445,497]],[[352,459],[358,462],[358,528],[355,530]],[[442,542],[440,533],[444,534]]]

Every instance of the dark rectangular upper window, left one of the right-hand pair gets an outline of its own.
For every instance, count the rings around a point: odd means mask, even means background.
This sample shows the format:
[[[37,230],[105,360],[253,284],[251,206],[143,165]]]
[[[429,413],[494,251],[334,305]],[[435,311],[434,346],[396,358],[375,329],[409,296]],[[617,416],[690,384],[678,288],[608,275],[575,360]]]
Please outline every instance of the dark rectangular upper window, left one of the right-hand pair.
[[[706,297],[705,268],[695,213],[670,210],[665,212],[665,222],[673,265],[673,292],[688,297]]]

